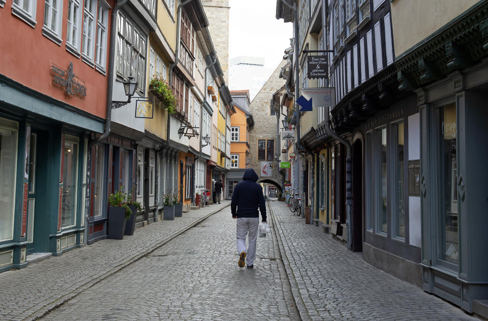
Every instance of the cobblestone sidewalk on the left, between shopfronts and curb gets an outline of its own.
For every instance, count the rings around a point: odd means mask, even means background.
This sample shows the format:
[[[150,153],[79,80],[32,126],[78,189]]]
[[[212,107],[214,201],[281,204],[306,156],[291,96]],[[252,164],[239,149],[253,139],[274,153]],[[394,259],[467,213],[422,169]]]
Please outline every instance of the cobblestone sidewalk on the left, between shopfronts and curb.
[[[0,320],[33,320],[43,315],[229,204],[223,200],[222,204],[190,210],[174,221],[138,228],[123,240],[98,241],[20,270],[0,273]],[[148,281],[151,279],[148,276]],[[131,299],[126,298],[126,303]]]

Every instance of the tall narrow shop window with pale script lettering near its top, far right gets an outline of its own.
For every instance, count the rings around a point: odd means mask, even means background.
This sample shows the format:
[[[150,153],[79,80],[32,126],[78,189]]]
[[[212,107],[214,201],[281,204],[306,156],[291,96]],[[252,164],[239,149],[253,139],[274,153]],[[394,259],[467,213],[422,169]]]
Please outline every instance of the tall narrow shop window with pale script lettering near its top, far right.
[[[438,188],[439,194],[439,259],[459,264],[459,230],[456,192],[457,119],[456,105],[448,104],[436,110]]]

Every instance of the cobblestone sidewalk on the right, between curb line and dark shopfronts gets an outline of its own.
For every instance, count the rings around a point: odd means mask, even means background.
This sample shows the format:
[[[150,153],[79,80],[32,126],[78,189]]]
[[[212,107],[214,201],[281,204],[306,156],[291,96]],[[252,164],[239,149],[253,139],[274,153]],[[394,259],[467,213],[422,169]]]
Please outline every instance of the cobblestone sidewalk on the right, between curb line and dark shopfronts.
[[[368,264],[284,202],[269,206],[303,320],[478,320]]]

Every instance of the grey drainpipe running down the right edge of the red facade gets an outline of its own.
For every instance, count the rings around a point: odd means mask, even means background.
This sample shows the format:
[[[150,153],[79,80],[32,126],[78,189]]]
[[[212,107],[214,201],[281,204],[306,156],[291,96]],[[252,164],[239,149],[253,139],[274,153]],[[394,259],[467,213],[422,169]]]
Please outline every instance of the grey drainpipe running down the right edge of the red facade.
[[[107,110],[105,116],[105,130],[97,139],[88,143],[88,152],[98,142],[104,140],[110,134],[110,124],[112,123],[112,93],[113,93],[113,65],[115,60],[115,40],[117,38],[117,13],[118,10],[127,3],[127,0],[120,0],[112,9],[112,21],[110,25],[110,56],[108,58],[108,77],[107,77]]]

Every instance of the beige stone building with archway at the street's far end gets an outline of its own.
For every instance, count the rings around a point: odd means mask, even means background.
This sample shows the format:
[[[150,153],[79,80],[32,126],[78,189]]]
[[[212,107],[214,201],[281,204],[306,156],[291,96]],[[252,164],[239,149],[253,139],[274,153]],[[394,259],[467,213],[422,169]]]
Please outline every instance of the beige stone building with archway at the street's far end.
[[[274,93],[285,85],[285,80],[280,78],[281,68],[286,64],[286,60],[280,62],[275,71],[271,74],[269,79],[264,84],[263,88],[258,92],[250,105],[250,113],[254,116],[254,127],[250,130],[249,145],[250,145],[250,167],[253,168],[259,176],[258,183],[270,183],[276,185],[279,190],[282,189],[283,176],[279,172],[278,162],[273,161],[274,155],[281,151],[281,146],[277,149],[277,117],[276,114],[271,113],[270,102]],[[262,152],[259,151],[259,140],[266,141],[265,158],[268,164],[272,164],[271,176],[262,176],[261,161]],[[268,157],[268,140],[273,141],[273,156]],[[261,157],[260,157],[261,156]]]

